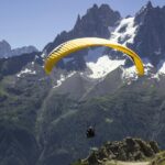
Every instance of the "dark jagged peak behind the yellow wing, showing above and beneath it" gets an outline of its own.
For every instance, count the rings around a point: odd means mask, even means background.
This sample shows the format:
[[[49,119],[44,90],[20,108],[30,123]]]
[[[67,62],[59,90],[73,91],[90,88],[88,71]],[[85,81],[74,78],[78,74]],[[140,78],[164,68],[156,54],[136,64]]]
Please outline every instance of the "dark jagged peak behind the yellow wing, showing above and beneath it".
[[[120,19],[120,13],[113,11],[108,4],[102,4],[100,7],[94,4],[84,16],[78,15],[73,30],[69,32],[64,31],[58,34],[52,43],[45,46],[43,52],[48,54],[55,46],[75,37],[98,36],[108,38],[110,36],[110,28],[113,28]],[[87,54],[87,52],[88,51],[85,50],[76,54],[74,59],[69,62],[72,63],[69,65],[62,61],[59,66],[67,69],[84,69],[86,63],[82,56]]]

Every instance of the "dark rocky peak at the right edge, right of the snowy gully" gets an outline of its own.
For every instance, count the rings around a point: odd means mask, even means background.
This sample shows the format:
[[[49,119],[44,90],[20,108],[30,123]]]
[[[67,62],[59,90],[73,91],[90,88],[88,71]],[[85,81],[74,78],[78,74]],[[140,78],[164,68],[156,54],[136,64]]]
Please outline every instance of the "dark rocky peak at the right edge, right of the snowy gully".
[[[165,58],[165,8],[153,8],[148,2],[135,15],[139,25],[133,47],[141,55],[147,57],[153,65]]]

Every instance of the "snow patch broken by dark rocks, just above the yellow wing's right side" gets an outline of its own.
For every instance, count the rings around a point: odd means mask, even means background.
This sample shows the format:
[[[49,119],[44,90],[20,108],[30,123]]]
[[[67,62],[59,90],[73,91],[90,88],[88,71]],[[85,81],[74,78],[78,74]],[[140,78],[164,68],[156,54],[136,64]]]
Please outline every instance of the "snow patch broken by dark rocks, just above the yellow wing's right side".
[[[114,43],[133,43],[134,36],[136,35],[138,25],[134,23],[134,18],[125,18],[121,20],[116,30],[111,33],[110,40]]]

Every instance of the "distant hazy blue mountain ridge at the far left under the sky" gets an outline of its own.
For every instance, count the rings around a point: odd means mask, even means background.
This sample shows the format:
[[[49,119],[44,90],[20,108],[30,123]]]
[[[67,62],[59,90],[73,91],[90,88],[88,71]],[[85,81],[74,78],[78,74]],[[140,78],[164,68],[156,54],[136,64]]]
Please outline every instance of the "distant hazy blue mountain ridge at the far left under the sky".
[[[7,58],[11,56],[19,56],[22,54],[38,52],[34,46],[23,46],[19,48],[11,48],[10,44],[2,40],[0,41],[0,58]]]

